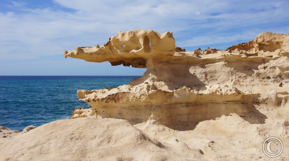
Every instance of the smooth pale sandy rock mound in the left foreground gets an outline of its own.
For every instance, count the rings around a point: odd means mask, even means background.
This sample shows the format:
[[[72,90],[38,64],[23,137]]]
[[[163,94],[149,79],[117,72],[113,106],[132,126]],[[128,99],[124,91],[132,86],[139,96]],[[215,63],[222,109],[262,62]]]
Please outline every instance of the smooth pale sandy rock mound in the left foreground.
[[[198,148],[166,144],[122,119],[57,120],[0,138],[0,160],[200,160]]]

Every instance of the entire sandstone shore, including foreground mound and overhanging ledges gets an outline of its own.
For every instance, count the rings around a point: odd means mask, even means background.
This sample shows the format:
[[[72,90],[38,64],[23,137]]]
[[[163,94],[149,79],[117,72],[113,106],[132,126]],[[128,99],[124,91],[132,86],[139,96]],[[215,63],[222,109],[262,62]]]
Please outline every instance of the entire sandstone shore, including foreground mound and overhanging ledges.
[[[64,57],[147,68],[144,75],[119,87],[78,90],[92,108],[0,138],[0,156],[263,161],[271,160],[263,141],[275,136],[284,145],[275,159],[286,160],[288,56],[289,34],[261,33],[226,50],[189,52],[175,46],[170,32],[118,32],[104,46],[78,47]]]

